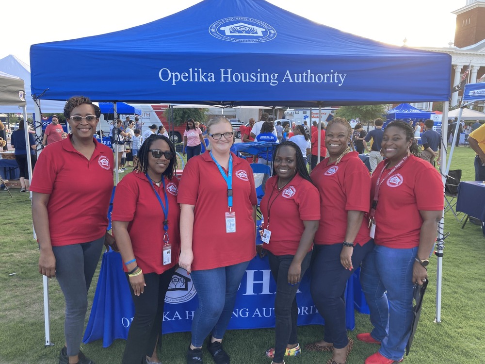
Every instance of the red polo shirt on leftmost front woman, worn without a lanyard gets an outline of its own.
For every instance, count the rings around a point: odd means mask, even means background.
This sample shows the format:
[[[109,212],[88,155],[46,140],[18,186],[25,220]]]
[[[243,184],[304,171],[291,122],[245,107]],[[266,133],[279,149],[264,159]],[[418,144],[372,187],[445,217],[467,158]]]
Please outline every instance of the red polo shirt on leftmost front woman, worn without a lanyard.
[[[88,161],[72,136],[46,146],[32,176],[31,191],[49,194],[47,211],[52,246],[99,239],[108,227],[113,192],[113,150],[97,142]]]

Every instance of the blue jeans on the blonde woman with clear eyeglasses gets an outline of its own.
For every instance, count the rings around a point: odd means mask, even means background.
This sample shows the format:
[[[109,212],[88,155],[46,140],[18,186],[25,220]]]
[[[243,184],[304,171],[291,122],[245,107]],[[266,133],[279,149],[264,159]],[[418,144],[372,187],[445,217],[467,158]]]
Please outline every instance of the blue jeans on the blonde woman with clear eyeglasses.
[[[249,261],[220,268],[194,270],[199,307],[192,320],[192,345],[202,347],[207,335],[222,339],[231,319],[236,294]]]

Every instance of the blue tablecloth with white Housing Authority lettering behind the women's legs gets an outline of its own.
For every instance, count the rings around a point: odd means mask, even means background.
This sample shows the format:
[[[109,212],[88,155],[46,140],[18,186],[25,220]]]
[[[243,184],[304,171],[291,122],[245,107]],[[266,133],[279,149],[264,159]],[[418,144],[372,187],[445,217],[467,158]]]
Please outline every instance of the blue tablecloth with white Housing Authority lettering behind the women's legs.
[[[103,255],[93,308],[84,333],[84,343],[102,339],[103,347],[108,347],[113,340],[128,337],[134,308],[128,282],[121,267],[119,253],[110,251]],[[346,326],[349,330],[355,328],[354,307],[359,312],[369,313],[356,274],[347,282],[345,292]],[[307,271],[296,296],[298,325],[323,325],[323,319],[313,304],[309,288]],[[242,278],[228,329],[274,327],[275,292],[276,283],[271,276],[268,257],[256,256]],[[197,304],[197,295],[190,276],[187,276],[185,270],[178,268],[165,298],[162,332],[190,331]]]

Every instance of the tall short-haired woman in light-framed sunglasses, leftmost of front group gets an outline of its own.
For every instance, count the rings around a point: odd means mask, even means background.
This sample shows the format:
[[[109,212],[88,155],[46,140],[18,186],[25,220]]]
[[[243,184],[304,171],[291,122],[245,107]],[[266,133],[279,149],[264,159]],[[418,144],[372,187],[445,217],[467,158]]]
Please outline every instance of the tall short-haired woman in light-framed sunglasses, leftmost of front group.
[[[90,99],[67,100],[71,135],[40,153],[32,178],[32,220],[40,248],[39,272],[56,277],[65,298],[61,364],[92,364],[79,350],[87,292],[106,232],[113,192],[113,152],[93,137],[101,111]],[[106,242],[105,242],[106,239]]]

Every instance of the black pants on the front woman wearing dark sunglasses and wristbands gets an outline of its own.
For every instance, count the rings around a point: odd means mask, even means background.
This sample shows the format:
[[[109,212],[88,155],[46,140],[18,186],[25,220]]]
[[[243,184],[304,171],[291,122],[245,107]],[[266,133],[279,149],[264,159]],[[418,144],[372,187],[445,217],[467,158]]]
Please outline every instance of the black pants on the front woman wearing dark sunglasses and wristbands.
[[[143,294],[135,296],[129,284],[131,298],[135,305],[135,316],[129,327],[128,339],[123,353],[123,364],[146,364],[146,355],[152,356],[159,333],[162,332],[163,304],[175,267],[162,274],[144,274]]]

